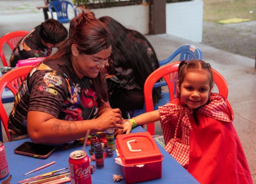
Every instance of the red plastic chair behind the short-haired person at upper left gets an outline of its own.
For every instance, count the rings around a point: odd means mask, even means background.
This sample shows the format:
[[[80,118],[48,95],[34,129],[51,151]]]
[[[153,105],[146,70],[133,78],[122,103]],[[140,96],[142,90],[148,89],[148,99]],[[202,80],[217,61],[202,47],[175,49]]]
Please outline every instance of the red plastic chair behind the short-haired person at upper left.
[[[4,66],[8,66],[8,63],[6,61],[6,57],[3,51],[4,44],[7,43],[11,48],[11,50],[13,51],[13,49],[15,48],[19,40],[22,39],[28,33],[29,31],[13,31],[5,34],[0,38],[0,57]]]

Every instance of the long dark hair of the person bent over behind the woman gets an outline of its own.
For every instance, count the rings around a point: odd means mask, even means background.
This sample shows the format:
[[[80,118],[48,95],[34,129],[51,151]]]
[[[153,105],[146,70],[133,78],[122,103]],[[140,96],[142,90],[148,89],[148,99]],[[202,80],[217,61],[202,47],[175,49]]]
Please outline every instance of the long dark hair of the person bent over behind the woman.
[[[159,67],[153,46],[141,33],[125,28],[112,17],[102,16],[99,20],[111,32],[110,73],[115,72],[111,68],[132,68],[135,83],[143,89],[146,78]],[[154,89],[153,94],[153,101],[156,103],[161,98],[161,88]]]

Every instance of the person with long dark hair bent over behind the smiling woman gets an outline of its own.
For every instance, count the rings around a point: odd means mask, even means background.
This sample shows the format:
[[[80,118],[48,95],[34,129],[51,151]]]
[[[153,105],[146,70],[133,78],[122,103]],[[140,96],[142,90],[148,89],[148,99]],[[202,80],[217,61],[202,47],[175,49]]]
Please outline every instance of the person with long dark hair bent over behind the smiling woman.
[[[105,67],[109,101],[112,108],[120,108],[122,117],[127,111],[142,109],[144,106],[143,86],[146,78],[159,67],[151,43],[138,31],[127,29],[109,16],[99,18],[110,30],[112,52]],[[153,101],[161,98],[161,88],[154,89]]]

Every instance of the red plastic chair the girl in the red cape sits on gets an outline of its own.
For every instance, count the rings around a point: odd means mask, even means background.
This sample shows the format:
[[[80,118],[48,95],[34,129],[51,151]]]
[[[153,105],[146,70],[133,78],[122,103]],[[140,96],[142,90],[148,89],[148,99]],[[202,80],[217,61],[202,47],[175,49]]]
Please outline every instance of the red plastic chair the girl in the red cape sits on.
[[[176,89],[174,86],[176,85],[175,76],[178,75],[178,68],[179,68],[179,62],[173,62],[166,64],[164,66],[159,67],[157,70],[155,70],[150,76],[147,77],[145,84],[144,84],[144,98],[145,98],[145,108],[146,112],[150,112],[153,110],[156,110],[156,107],[164,105],[168,103],[169,101],[172,101],[175,99],[175,94],[177,94],[177,91],[175,93],[174,89]],[[214,70],[212,68],[212,72],[214,75],[214,82],[218,87],[219,94],[227,98],[228,95],[228,86],[226,83],[226,80],[224,77]],[[164,81],[167,83],[168,86],[168,92],[163,93],[163,98],[158,102],[157,105],[153,105],[153,97],[152,97],[152,90],[154,87],[154,84],[159,80],[163,78]],[[166,85],[165,82],[158,82],[157,87]],[[214,91],[215,89],[213,89]],[[151,123],[147,125],[147,131],[150,132],[151,135],[155,135],[155,123]]]

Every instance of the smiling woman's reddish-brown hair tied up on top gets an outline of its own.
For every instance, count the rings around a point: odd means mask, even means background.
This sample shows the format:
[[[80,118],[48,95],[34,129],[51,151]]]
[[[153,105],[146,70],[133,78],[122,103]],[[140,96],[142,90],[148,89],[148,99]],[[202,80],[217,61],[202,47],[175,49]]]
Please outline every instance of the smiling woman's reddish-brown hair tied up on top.
[[[99,21],[93,12],[86,9],[84,5],[77,8],[81,9],[81,13],[70,21],[69,38],[61,45],[57,52],[48,57],[47,60],[55,60],[59,58],[69,58],[71,62],[72,51],[71,46],[75,44],[79,54],[87,55],[96,54],[111,46],[110,32],[108,28]],[[99,72],[96,78],[93,78],[93,85],[97,93],[98,99],[106,100],[108,93],[104,90],[104,73]],[[101,104],[101,101],[98,100]]]

